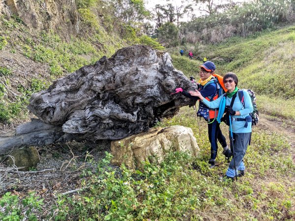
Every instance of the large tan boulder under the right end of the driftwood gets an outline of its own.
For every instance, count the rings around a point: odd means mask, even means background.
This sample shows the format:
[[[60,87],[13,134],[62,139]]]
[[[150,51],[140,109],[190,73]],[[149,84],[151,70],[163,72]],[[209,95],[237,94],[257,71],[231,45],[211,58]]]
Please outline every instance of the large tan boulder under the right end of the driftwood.
[[[168,151],[188,151],[196,156],[199,146],[191,128],[171,126],[156,128],[111,142],[112,163],[129,168],[142,168],[142,161],[160,163]]]

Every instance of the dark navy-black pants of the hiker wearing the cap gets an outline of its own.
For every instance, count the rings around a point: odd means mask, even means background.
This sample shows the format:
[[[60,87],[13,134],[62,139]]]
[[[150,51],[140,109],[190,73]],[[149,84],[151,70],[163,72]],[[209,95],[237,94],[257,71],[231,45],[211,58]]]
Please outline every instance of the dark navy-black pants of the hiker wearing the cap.
[[[212,121],[213,119],[210,120],[210,122]],[[215,119],[212,123],[210,122],[208,123],[208,137],[211,144],[211,159],[215,159],[218,149],[217,139],[222,147],[226,147],[227,143],[224,135],[221,133],[220,124],[217,120]]]

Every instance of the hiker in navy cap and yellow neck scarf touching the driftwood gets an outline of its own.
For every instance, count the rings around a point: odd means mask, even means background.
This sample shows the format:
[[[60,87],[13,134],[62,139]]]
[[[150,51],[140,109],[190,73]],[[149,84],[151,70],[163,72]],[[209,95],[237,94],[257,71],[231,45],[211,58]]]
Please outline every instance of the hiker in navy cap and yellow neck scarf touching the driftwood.
[[[207,61],[200,66],[200,80],[198,82],[198,87],[200,93],[209,101],[216,100],[218,98],[217,83],[216,79],[212,76],[215,71],[215,64],[211,61]],[[192,80],[192,79],[191,79]],[[175,93],[181,92],[182,95],[189,97],[195,101],[199,100],[198,97],[192,96],[188,91],[183,90],[181,87],[175,89]],[[197,115],[203,117],[208,123],[208,138],[211,144],[211,158],[209,160],[209,167],[215,166],[215,158],[217,155],[217,139],[223,147],[223,153],[226,157],[230,158],[232,156],[231,150],[228,148],[226,143],[226,138],[223,136],[220,130],[220,123],[217,122],[216,117],[218,114],[217,109],[208,109],[207,106],[199,102],[199,110]]]

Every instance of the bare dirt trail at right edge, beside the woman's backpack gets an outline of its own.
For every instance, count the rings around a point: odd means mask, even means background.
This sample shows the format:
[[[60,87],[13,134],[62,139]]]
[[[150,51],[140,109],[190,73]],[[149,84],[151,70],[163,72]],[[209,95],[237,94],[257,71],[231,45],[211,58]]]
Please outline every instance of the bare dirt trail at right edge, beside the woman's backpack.
[[[266,114],[260,114],[258,125],[255,126],[254,130],[262,130],[267,134],[276,133],[287,138],[291,145],[291,153],[295,163],[295,125],[287,124],[278,118],[273,119]]]

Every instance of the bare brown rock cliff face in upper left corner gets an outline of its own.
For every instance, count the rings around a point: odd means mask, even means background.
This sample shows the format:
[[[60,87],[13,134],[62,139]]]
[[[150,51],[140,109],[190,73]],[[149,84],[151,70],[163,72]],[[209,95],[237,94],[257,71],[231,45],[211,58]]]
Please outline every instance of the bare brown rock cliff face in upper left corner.
[[[13,13],[36,30],[57,30],[65,39],[80,31],[74,0],[0,0],[0,13],[7,16]]]

